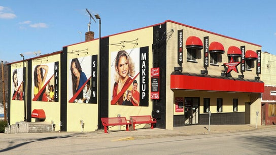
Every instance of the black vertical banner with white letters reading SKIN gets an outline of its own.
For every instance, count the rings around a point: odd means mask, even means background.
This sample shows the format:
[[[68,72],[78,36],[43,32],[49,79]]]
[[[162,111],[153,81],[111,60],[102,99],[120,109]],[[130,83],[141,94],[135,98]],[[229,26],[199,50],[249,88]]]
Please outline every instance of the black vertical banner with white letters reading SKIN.
[[[92,55],[92,75],[91,75],[91,103],[97,103],[97,93],[98,93],[98,82],[97,82],[97,77],[98,77],[98,55]]]

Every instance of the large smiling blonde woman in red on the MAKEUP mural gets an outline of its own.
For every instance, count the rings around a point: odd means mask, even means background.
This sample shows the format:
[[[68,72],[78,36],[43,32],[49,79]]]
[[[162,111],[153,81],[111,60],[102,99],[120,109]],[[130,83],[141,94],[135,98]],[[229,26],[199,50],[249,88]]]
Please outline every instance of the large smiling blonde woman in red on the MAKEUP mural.
[[[115,58],[115,70],[115,83],[112,98],[115,99],[114,104],[122,105],[123,94],[120,92],[126,91],[123,89],[129,84],[135,74],[134,62],[126,51],[123,50],[117,53]]]

